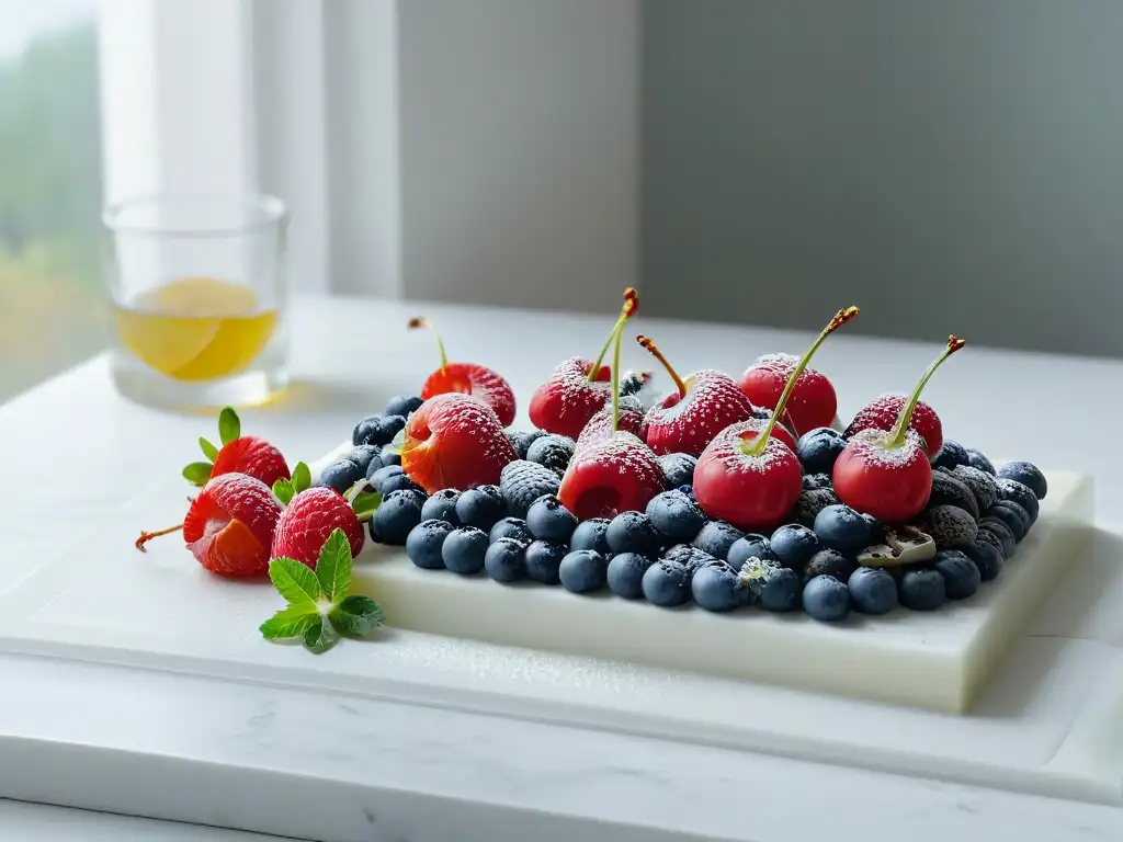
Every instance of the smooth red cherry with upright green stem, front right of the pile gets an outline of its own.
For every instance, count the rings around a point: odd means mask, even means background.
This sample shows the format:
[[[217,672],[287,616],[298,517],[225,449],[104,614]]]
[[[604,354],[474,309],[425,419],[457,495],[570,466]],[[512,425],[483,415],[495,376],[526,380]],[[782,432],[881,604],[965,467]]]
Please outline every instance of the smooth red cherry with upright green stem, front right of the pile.
[[[868,427],[847,441],[831,476],[840,501],[885,523],[905,523],[924,509],[932,493],[932,464],[912,418],[935,369],[964,345],[948,337],[943,354],[924,372],[892,430]]]

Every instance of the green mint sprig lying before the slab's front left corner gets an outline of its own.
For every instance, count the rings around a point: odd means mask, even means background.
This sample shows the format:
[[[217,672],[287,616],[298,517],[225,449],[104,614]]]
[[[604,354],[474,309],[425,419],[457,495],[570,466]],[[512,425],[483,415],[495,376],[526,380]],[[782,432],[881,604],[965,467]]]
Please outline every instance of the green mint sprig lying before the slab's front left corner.
[[[302,639],[321,655],[340,638],[362,638],[382,625],[382,606],[350,594],[351,552],[341,529],[332,530],[311,569],[292,558],[270,561],[270,578],[287,605],[261,624],[266,640]]]

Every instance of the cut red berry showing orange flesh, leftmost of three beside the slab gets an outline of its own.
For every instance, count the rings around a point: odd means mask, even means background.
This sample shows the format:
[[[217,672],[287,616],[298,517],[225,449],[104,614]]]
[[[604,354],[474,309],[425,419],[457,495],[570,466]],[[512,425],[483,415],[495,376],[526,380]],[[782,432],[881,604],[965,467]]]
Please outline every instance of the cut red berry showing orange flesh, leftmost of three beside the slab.
[[[268,570],[280,515],[281,503],[265,483],[245,474],[222,474],[191,502],[183,540],[211,573],[259,576]]]

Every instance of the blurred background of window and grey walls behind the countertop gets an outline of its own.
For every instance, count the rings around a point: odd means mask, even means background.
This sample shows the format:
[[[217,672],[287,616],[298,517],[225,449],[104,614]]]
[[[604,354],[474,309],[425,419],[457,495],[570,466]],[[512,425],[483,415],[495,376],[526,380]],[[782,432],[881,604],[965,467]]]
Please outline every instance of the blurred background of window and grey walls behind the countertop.
[[[299,292],[1123,356],[1110,0],[0,4],[0,401],[99,350],[100,211],[261,190]]]

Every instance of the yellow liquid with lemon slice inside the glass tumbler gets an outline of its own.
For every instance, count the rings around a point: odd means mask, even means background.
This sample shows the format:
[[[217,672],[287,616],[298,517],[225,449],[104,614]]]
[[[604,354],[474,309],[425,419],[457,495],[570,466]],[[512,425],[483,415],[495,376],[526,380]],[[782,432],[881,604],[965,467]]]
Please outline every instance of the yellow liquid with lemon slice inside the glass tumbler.
[[[121,345],[177,381],[238,372],[265,350],[277,324],[277,311],[261,310],[253,290],[212,277],[179,278],[113,310]]]

